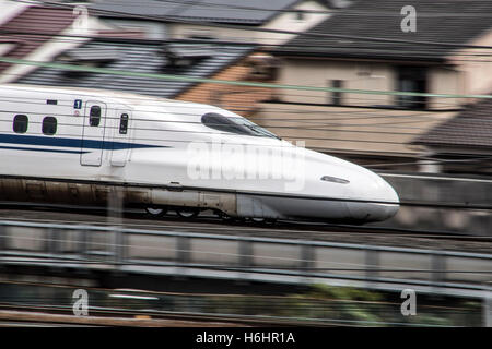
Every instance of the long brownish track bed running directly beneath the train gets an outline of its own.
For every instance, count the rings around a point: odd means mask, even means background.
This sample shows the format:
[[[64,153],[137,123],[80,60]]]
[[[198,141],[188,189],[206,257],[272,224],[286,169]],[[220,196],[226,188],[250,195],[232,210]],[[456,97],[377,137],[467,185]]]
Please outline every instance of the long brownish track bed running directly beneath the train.
[[[125,210],[121,217],[108,217],[107,212],[102,207],[40,207],[9,203],[0,204],[0,219],[74,225],[120,225],[147,230],[175,230],[492,253],[492,236],[303,221],[278,221],[276,225],[225,222],[212,214],[194,219],[185,219],[171,214],[155,219],[145,216],[143,210],[132,209]]]

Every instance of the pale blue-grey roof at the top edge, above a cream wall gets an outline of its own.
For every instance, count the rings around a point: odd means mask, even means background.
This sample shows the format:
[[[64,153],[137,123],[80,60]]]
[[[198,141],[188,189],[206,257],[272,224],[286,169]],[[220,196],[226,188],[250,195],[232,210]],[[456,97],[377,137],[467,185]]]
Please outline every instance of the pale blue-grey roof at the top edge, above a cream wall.
[[[203,22],[262,24],[279,10],[288,9],[300,0],[99,0],[92,10],[108,11],[106,16],[169,16]],[[248,10],[244,8],[251,8]],[[258,10],[256,10],[258,9]],[[110,13],[113,12],[113,13]],[[103,13],[101,14],[103,15]]]

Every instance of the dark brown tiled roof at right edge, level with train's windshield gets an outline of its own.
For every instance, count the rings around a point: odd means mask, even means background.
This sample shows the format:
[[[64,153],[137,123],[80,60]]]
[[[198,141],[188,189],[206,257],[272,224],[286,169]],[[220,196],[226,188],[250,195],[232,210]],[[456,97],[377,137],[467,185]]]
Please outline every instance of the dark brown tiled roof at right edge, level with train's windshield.
[[[438,147],[492,148],[492,99],[468,105],[455,118],[411,143]]]

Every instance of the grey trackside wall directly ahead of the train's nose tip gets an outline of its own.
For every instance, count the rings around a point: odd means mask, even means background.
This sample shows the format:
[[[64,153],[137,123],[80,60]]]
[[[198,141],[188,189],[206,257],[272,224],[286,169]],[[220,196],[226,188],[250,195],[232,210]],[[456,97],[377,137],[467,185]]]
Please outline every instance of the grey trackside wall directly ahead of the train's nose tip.
[[[395,188],[402,202],[421,203],[422,206],[401,205],[395,217],[379,226],[492,236],[490,179],[445,174],[380,174]]]

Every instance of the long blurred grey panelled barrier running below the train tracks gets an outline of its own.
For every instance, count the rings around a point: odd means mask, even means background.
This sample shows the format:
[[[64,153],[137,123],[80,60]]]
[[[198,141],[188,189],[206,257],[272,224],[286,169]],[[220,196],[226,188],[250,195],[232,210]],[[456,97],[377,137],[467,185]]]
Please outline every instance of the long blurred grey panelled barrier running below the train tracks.
[[[492,254],[7,220],[0,221],[0,264],[480,298],[492,281]]]

